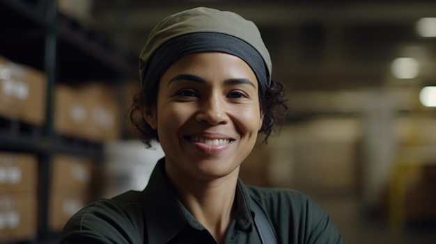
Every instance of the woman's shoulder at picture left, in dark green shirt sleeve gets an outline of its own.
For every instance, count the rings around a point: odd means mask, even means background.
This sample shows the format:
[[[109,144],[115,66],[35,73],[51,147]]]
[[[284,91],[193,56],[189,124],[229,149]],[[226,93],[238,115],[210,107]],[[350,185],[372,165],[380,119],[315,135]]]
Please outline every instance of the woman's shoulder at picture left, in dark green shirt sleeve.
[[[91,202],[68,220],[60,243],[137,243],[143,240],[140,194],[129,191]]]

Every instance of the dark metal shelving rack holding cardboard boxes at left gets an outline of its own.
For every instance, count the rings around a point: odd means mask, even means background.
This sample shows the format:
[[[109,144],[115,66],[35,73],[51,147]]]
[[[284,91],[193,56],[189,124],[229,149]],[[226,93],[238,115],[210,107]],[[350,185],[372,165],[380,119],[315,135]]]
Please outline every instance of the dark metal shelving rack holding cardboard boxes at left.
[[[57,243],[47,225],[50,161],[54,153],[100,158],[102,145],[78,139],[74,146],[59,143],[52,129],[53,91],[56,82],[102,79],[118,82],[137,75],[137,63],[125,51],[111,46],[100,33],[61,13],[56,0],[0,0],[0,55],[47,74],[46,120],[36,136],[23,136],[19,122],[1,128],[0,150],[30,152],[38,156],[40,218],[38,233],[29,243]],[[118,96],[119,97],[119,96]],[[4,125],[4,123],[3,123]],[[1,130],[3,129],[3,131]],[[83,143],[80,143],[83,142]]]

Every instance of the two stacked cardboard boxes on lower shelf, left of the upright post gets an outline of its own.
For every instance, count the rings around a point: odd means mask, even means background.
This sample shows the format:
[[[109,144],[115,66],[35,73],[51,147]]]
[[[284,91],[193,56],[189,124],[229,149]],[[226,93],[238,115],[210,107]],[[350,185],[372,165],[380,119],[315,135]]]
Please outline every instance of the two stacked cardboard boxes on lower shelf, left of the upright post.
[[[0,152],[0,243],[36,237],[37,169],[32,154]]]

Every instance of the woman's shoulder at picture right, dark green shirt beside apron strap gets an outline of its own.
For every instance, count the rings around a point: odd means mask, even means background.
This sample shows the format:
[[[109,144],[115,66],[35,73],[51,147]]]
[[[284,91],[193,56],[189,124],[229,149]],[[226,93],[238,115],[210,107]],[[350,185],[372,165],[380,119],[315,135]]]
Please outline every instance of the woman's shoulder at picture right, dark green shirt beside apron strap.
[[[247,186],[247,191],[263,206],[283,243],[343,243],[328,213],[308,195],[256,186]]]

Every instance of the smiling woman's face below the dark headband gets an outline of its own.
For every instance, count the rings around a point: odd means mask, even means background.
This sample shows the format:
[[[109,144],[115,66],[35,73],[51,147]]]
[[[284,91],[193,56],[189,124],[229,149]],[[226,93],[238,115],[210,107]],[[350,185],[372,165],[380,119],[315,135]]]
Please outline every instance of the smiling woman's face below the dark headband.
[[[237,175],[262,125],[258,81],[236,56],[188,54],[162,75],[157,106],[145,118],[157,129],[170,177]]]

